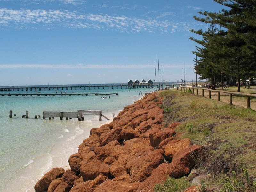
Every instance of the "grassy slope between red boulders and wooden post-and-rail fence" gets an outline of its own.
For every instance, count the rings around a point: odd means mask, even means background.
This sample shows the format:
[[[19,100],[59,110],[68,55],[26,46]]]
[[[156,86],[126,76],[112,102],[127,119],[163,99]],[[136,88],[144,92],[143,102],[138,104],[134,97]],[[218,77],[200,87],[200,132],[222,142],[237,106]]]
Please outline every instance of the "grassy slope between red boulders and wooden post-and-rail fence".
[[[172,110],[164,114],[164,126],[180,122],[176,131],[205,147],[196,168],[199,174],[212,175],[209,182],[214,190],[220,191],[224,176],[232,171],[243,178],[242,169],[248,168],[249,177],[256,177],[255,111],[184,92],[163,91],[159,95],[165,97],[161,107]],[[192,132],[186,128],[188,123],[193,125]]]

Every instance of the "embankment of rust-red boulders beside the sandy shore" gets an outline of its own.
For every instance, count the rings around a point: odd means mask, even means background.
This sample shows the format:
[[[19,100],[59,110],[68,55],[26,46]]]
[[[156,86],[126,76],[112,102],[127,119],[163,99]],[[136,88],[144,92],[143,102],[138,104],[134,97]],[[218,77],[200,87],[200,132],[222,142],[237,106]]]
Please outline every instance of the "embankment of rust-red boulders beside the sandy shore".
[[[159,101],[158,101],[159,100]],[[70,156],[69,170],[54,168],[35,185],[48,192],[153,191],[170,175],[187,175],[194,166],[191,153],[200,146],[179,139],[179,123],[164,128],[161,98],[150,94],[119,113],[114,121],[90,131]]]

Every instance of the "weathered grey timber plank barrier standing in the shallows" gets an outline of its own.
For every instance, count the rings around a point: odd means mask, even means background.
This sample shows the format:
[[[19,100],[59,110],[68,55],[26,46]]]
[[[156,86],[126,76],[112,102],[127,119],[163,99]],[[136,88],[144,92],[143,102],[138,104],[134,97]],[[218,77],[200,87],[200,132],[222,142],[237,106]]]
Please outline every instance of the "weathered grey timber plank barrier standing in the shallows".
[[[78,118],[78,121],[83,121],[85,115],[98,115],[99,121],[101,121],[102,117],[109,120],[106,116],[102,114],[102,111],[90,111],[90,110],[78,110],[78,111],[43,111],[43,119],[45,118],[60,118],[60,120],[63,120],[63,118]]]

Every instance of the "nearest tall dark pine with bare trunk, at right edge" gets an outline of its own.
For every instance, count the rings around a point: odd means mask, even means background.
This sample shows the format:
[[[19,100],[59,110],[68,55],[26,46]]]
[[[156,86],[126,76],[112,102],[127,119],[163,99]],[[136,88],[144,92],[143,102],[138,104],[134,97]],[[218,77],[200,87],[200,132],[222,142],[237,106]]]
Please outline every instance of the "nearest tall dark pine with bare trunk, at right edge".
[[[204,23],[218,24],[225,28],[222,45],[226,48],[219,52],[220,58],[228,59],[236,69],[238,81],[237,92],[240,92],[240,75],[248,71],[255,72],[256,66],[256,1],[255,0],[214,0],[227,9],[220,12],[198,12],[203,18],[194,18]],[[191,30],[192,32],[196,32]],[[198,30],[197,34],[202,34]],[[195,39],[192,39],[195,40]],[[198,42],[199,43],[199,42]],[[206,48],[207,49],[207,48]],[[211,50],[210,50],[211,52]],[[242,70],[241,70],[242,69]]]

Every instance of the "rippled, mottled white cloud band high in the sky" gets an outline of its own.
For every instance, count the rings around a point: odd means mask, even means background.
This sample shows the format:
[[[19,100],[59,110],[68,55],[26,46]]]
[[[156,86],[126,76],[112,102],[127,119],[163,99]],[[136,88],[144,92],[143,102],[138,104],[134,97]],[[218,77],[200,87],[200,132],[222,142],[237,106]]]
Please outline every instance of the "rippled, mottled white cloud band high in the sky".
[[[72,2],[72,1],[67,1]],[[171,15],[165,12],[157,18]],[[173,23],[169,20],[141,19],[124,15],[79,14],[68,10],[13,10],[0,8],[0,26],[13,28],[94,28],[97,30],[119,30],[121,32],[173,32],[173,28],[183,29],[187,23]],[[175,30],[177,31],[177,30]]]

